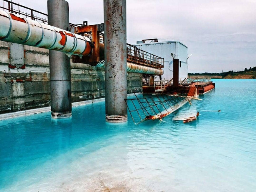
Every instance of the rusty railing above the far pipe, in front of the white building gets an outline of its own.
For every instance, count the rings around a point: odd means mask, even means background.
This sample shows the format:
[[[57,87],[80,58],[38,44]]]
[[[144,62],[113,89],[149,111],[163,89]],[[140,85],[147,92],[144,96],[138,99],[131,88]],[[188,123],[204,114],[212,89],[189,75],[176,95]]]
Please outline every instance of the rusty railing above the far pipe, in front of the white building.
[[[127,43],[127,61],[147,65],[155,68],[163,68],[164,58],[150,54],[134,45]]]

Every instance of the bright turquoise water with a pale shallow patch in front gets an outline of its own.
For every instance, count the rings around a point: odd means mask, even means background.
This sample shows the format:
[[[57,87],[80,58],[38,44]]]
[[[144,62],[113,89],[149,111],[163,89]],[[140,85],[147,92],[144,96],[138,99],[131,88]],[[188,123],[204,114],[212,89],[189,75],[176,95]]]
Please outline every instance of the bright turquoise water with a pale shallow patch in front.
[[[0,121],[0,192],[255,192],[256,80],[214,82],[162,122],[105,123],[104,102]]]

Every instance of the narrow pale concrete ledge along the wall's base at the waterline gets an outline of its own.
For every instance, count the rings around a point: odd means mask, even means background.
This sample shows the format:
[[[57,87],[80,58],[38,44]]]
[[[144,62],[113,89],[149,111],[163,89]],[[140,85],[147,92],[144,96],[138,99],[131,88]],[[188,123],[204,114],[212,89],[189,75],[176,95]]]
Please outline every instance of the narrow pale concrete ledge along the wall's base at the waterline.
[[[131,97],[133,95],[134,95],[133,93],[130,93],[127,95],[127,97]],[[104,101],[105,101],[105,97],[100,98],[100,99],[74,102],[74,103],[72,103],[72,107],[83,106],[86,104],[92,104],[92,103],[104,102]],[[0,121],[4,120],[4,119],[11,119],[11,118],[16,118],[16,117],[21,117],[21,116],[29,116],[29,115],[33,115],[33,114],[50,112],[50,111],[51,111],[51,107],[41,107],[41,108],[36,108],[36,109],[24,110],[24,111],[9,112],[9,113],[0,114]]]

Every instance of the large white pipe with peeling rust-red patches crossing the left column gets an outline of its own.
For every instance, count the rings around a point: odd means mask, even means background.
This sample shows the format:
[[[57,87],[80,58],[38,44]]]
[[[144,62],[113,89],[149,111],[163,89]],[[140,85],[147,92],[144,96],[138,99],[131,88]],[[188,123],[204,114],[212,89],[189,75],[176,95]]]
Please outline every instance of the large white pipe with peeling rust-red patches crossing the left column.
[[[17,14],[0,10],[0,40],[86,56],[90,39]]]

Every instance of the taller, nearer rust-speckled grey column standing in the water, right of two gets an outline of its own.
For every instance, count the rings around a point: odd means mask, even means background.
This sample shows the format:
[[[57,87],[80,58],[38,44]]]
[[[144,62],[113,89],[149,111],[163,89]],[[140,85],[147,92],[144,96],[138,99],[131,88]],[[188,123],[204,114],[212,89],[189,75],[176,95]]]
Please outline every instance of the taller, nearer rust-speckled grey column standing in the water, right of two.
[[[126,0],[104,0],[106,121],[127,121]]]

